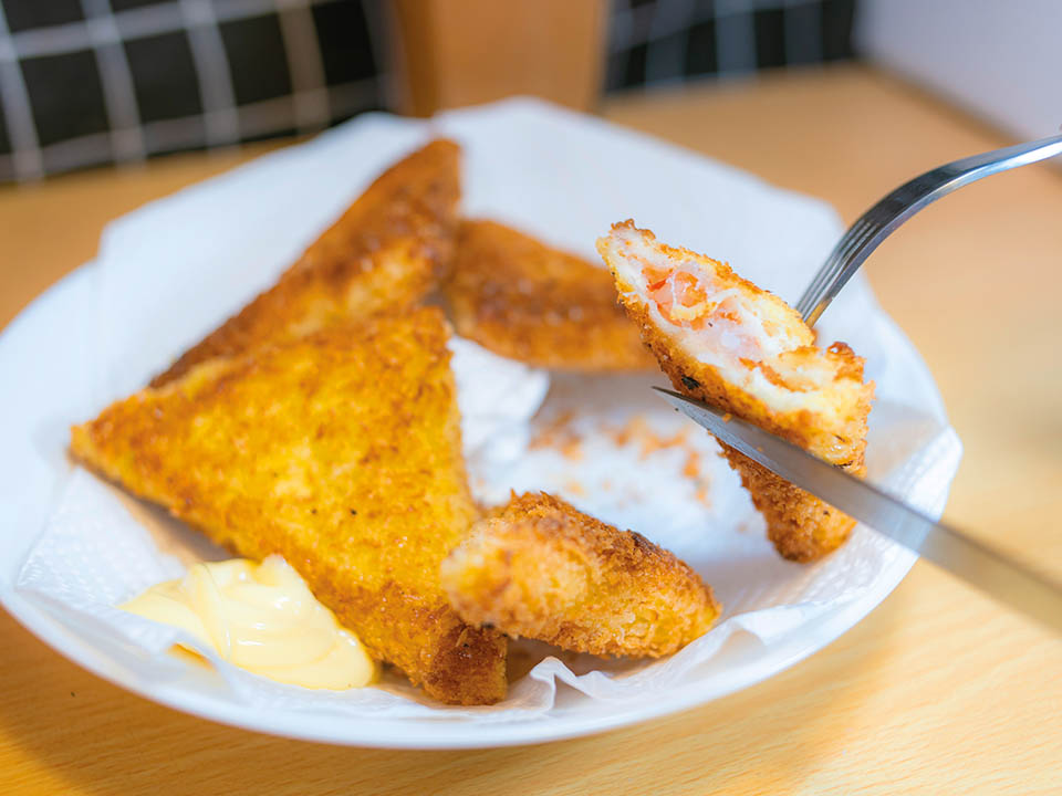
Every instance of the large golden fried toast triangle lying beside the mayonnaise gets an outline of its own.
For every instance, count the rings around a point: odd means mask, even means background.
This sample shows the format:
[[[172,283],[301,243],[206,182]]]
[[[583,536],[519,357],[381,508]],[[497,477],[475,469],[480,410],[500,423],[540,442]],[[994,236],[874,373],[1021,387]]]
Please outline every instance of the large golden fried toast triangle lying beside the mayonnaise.
[[[438,578],[477,514],[446,341],[421,308],[214,359],[75,427],[72,451],[240,556],[282,555],[431,696],[497,702],[507,641]]]

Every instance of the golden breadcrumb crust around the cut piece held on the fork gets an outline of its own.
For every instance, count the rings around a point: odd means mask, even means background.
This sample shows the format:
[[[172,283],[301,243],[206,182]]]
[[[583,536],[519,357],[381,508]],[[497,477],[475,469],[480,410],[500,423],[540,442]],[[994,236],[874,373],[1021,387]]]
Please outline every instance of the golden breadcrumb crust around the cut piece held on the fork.
[[[655,240],[652,232],[637,230],[633,221],[614,224],[613,228],[634,230],[649,240]],[[726,279],[727,274],[733,277],[731,285],[740,284],[741,290],[769,295],[751,282],[740,279],[728,266],[716,260],[687,249],[657,245],[668,256],[698,260],[709,264],[717,272],[718,269],[725,269],[723,277]],[[608,262],[604,247],[598,244],[598,248],[605,261]],[[613,273],[615,274],[615,269]],[[873,383],[863,385],[863,359],[856,356],[847,345],[834,343],[825,352],[805,346],[785,355],[791,364],[800,359],[824,359],[834,373],[834,384],[855,381],[862,386],[847,391],[856,398],[851,405],[843,407],[843,411],[836,416],[840,419],[825,418],[808,409],[778,410],[726,379],[715,366],[706,365],[689,354],[671,329],[660,326],[655,321],[645,297],[633,285],[618,280],[617,275],[621,302],[629,317],[638,325],[643,342],[657,358],[660,368],[670,378],[676,390],[730,411],[854,475],[864,474],[867,416],[871,410],[874,385]],[[774,304],[783,305],[783,302],[775,296],[770,296],[770,300]],[[796,322],[803,324],[799,315],[795,313],[792,315]],[[806,325],[804,326],[806,328]],[[808,329],[808,335],[813,336],[811,329]],[[768,536],[782,556],[799,562],[815,561],[836,549],[847,540],[855,526],[853,519],[814,495],[793,486],[729,446],[722,447],[731,467],[740,473],[741,482],[749,491],[753,504],[763,515]]]

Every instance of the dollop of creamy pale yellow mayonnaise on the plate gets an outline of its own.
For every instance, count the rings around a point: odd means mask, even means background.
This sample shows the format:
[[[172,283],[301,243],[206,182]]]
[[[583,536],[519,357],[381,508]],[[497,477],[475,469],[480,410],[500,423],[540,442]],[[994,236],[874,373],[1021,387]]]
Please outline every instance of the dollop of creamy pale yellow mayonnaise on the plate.
[[[342,691],[377,675],[357,638],[280,556],[196,564],[121,608],[187,630],[222,659],[278,682]]]

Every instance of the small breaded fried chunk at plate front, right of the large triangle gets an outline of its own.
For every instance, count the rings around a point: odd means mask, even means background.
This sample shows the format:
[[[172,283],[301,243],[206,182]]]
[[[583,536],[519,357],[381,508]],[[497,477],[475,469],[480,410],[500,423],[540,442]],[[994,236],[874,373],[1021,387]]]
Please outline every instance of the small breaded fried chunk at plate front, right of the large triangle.
[[[593,654],[670,654],[720,611],[671,553],[544,493],[476,523],[441,580],[470,625]]]

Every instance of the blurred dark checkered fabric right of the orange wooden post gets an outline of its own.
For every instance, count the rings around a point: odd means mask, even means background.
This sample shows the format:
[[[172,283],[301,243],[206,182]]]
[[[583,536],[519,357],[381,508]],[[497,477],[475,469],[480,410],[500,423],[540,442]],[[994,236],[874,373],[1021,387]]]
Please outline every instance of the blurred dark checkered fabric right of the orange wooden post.
[[[852,56],[855,0],[614,0],[610,91]]]

